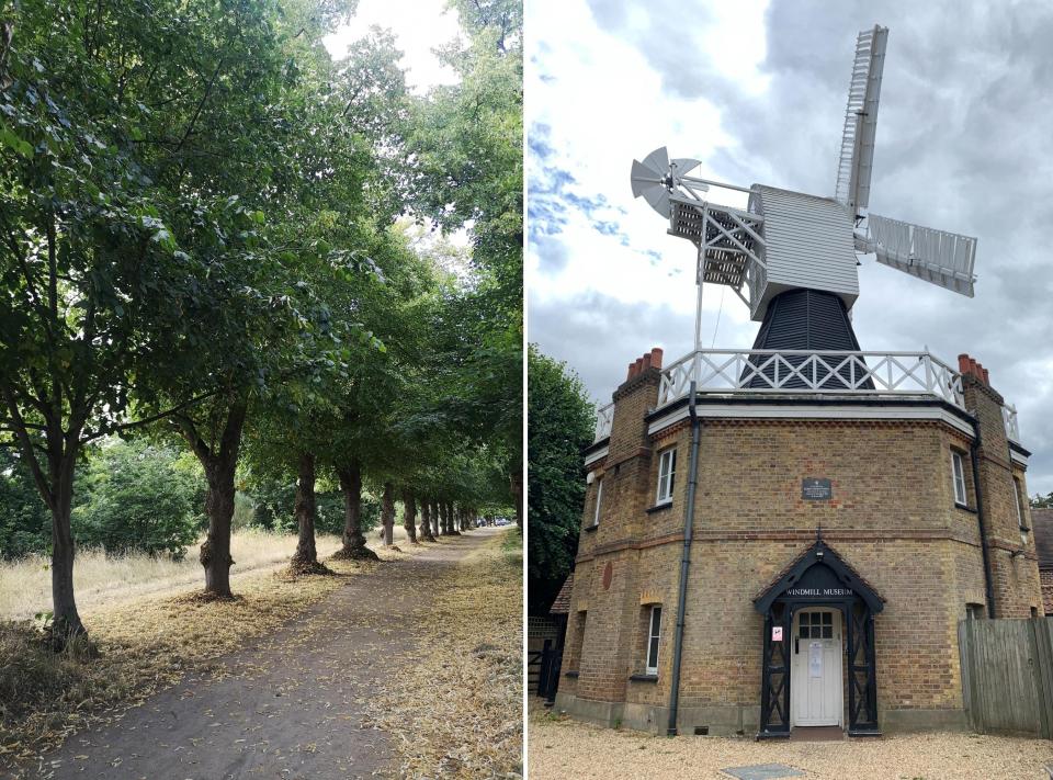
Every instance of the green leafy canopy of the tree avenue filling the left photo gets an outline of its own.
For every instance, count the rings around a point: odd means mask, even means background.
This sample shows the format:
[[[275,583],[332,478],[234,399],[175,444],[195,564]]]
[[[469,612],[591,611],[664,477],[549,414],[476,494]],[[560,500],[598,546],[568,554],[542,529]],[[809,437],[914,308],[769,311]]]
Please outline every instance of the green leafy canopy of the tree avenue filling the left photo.
[[[316,477],[352,541],[363,486],[521,496],[521,13],[453,3],[460,81],[414,95],[389,33],[327,52],[354,5],[0,4],[0,541],[48,540],[61,631],[75,515],[117,545],[136,485],[158,495],[149,465],[103,474],[129,446],[200,462],[219,598],[246,470],[297,485],[303,544]]]

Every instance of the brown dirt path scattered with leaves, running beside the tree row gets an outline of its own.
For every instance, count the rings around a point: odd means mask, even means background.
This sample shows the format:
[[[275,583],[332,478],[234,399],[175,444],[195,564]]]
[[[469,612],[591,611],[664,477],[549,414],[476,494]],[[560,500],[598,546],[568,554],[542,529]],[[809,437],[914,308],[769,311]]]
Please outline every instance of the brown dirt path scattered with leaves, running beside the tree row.
[[[456,563],[497,529],[445,538],[351,578],[267,640],[188,675],[117,723],[44,757],[47,778],[360,778],[390,773],[387,734],[363,724],[378,675]],[[403,662],[405,663],[405,662]]]

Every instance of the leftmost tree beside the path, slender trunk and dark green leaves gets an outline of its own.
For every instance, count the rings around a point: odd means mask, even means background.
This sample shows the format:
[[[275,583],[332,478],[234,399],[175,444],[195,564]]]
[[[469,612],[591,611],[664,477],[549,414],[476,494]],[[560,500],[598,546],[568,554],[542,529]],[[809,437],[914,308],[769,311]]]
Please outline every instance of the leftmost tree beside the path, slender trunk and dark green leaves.
[[[122,34],[143,32],[134,13],[116,15]],[[0,61],[0,431],[52,516],[59,642],[84,631],[70,530],[78,456],[123,427],[150,335],[178,327],[191,293],[192,262],[174,251],[136,159],[136,117],[148,110],[128,100],[98,21],[89,36],[65,5],[27,3]]]

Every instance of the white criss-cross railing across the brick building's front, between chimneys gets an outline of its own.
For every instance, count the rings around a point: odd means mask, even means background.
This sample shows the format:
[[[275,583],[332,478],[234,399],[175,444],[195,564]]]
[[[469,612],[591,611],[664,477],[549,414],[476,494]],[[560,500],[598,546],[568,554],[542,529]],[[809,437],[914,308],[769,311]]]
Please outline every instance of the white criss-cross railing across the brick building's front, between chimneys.
[[[962,376],[928,352],[700,350],[661,372],[658,408],[688,394],[932,395],[964,408]]]

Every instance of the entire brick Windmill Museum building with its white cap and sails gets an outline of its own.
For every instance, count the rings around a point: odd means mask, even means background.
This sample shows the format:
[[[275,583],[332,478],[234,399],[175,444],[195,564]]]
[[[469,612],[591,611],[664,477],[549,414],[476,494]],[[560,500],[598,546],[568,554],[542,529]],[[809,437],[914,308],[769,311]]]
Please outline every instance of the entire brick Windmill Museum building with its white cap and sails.
[[[975,239],[868,213],[886,36],[859,36],[833,197],[691,177],[664,149],[633,163],[694,247],[700,297],[731,287],[759,328],[703,349],[697,318],[694,351],[644,354],[598,414],[573,715],[762,738],[964,727],[958,621],[1041,609],[1012,407],[967,354],[868,352],[852,330],[859,256],[973,294]]]

